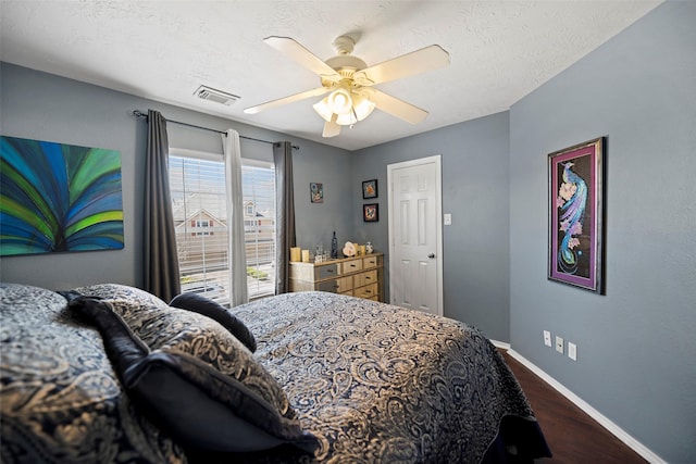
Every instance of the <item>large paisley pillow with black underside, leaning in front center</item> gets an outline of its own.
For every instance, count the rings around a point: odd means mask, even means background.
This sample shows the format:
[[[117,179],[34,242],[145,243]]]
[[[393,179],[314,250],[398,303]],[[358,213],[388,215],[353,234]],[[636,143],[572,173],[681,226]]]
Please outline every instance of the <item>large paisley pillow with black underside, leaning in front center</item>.
[[[219,452],[283,443],[309,452],[316,448],[316,438],[300,428],[275,379],[237,339],[217,324],[207,325],[204,316],[89,297],[72,300],[70,308],[97,326],[133,401],[182,444]],[[179,324],[171,324],[173,318]],[[181,333],[152,336],[173,326]]]

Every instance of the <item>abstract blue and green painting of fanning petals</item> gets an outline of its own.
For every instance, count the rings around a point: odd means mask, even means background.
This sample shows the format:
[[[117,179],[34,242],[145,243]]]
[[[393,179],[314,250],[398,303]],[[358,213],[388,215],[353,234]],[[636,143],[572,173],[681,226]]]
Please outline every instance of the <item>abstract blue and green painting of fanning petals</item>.
[[[0,136],[0,255],[122,248],[119,151]]]

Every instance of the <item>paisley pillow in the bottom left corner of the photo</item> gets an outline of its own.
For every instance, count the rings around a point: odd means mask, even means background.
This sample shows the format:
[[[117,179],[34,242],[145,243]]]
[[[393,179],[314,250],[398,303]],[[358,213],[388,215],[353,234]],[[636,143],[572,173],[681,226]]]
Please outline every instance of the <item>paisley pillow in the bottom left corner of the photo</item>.
[[[54,291],[0,283],[0,462],[182,463],[139,414],[97,330]]]

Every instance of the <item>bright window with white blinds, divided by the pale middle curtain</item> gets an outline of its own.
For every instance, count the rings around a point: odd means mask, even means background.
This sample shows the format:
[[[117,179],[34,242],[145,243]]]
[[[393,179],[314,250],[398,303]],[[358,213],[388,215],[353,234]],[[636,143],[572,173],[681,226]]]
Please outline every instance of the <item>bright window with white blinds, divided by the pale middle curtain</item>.
[[[171,150],[170,189],[182,291],[229,305],[225,167],[217,155]],[[275,290],[275,174],[243,161],[249,299]],[[253,217],[247,217],[253,213]]]

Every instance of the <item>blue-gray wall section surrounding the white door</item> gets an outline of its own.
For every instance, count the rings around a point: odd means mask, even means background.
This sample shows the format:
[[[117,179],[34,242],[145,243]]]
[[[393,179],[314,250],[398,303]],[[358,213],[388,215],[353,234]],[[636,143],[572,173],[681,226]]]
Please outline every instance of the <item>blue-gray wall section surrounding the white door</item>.
[[[510,339],[508,133],[507,112],[456,124],[357,151],[352,173],[356,238],[388,252],[387,165],[442,155],[443,212],[452,215],[443,226],[444,312],[500,341]],[[371,178],[378,223],[361,215],[361,204],[373,202],[361,191]]]

